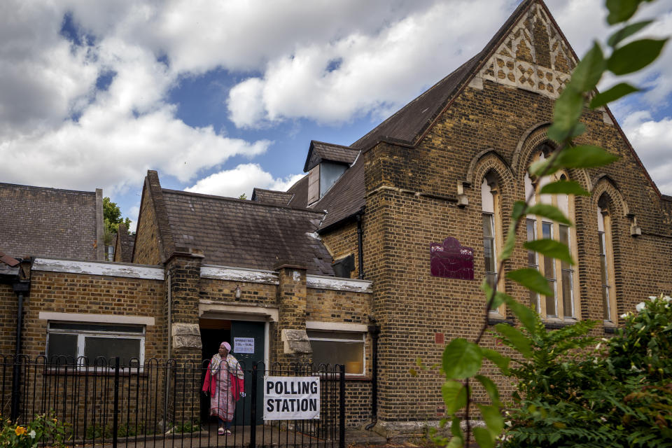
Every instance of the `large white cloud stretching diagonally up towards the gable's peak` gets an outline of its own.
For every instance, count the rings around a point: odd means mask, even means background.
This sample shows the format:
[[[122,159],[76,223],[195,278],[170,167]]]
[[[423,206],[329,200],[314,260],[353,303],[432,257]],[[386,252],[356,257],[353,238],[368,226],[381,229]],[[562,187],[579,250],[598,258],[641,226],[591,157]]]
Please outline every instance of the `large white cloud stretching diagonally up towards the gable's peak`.
[[[303,43],[230,91],[230,119],[239,127],[343,123],[402,106],[481,50],[510,8],[505,0],[437,2],[379,29]]]

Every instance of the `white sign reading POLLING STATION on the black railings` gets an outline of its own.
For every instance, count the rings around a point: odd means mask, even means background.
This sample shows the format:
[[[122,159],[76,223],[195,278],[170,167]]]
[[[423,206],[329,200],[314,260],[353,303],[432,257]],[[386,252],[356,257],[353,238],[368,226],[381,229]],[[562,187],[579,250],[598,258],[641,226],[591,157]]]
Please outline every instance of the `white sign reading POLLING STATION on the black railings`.
[[[264,377],[264,420],[319,418],[319,377]]]

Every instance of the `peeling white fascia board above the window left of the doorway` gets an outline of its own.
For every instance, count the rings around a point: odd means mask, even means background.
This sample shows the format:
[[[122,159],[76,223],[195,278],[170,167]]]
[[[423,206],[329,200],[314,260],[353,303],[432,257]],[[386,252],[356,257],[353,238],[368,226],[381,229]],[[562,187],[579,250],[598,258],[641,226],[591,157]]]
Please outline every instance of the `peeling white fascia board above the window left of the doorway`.
[[[163,280],[165,271],[162,267],[144,265],[127,265],[115,262],[92,262],[80,260],[56,260],[52,258],[36,258],[32,270],[43,272],[66,272],[68,274],[90,274],[131,279]]]

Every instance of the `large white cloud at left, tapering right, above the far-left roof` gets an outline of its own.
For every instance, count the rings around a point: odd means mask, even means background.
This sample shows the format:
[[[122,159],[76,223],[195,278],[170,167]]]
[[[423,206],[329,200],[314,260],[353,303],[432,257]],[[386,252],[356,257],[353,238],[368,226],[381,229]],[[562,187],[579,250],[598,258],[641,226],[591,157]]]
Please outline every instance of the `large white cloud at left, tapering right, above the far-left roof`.
[[[57,130],[0,143],[0,179],[41,186],[91,189],[106,194],[138,187],[147,169],[157,168],[179,181],[233,155],[258,155],[269,141],[253,144],[216,134],[212,127],[190,127],[162,106],[135,118],[108,116],[95,107]]]

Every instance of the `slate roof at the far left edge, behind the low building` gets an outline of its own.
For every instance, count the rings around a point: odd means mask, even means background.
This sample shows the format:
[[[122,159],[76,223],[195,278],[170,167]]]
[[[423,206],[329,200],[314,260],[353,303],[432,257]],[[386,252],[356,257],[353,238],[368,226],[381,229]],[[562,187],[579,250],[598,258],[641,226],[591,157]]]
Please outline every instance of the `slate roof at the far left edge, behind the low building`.
[[[97,260],[96,193],[0,183],[0,247],[30,255]]]

